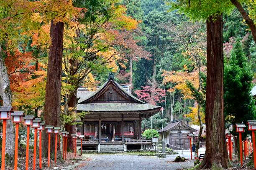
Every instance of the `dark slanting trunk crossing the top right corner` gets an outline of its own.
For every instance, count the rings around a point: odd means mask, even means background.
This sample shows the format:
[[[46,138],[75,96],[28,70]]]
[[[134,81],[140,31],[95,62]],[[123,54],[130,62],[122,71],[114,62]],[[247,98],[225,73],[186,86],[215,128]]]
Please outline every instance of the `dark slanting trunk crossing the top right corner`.
[[[243,6],[241,5],[240,2],[238,2],[237,0],[230,0],[230,1],[236,6],[236,8],[239,10],[241,15],[243,16],[243,19],[245,20],[245,22],[250,27],[253,40],[256,43],[256,25],[254,24],[253,20],[249,17],[249,15],[243,9]]]

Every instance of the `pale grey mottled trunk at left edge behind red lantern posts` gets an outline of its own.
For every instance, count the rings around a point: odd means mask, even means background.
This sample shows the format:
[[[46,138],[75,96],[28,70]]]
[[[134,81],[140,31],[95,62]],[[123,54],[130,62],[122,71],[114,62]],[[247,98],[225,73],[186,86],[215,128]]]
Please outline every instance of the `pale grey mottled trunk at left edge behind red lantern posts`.
[[[5,61],[3,58],[3,53],[0,45],[0,96],[3,100],[3,106],[11,106],[12,105],[12,94],[10,91],[10,80],[8,77],[7,69],[5,67]],[[5,147],[5,158],[8,160],[6,165],[12,165],[14,158],[14,146],[15,146],[15,133],[14,127],[11,120],[6,121],[6,141],[7,143]]]

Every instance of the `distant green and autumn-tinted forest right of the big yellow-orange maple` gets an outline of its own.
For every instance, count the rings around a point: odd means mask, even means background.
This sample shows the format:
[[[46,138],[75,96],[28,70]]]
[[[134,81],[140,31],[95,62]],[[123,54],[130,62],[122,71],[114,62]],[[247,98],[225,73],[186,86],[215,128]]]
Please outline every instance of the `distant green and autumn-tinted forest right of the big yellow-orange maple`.
[[[198,88],[198,70],[206,75],[206,25],[185,15],[170,11],[163,0],[124,0],[127,15],[141,20],[132,36],[147,52],[146,57],[129,58],[115,72],[120,84],[132,84],[132,92],[143,101],[164,107],[164,123],[183,119],[199,125],[197,102],[186,81]],[[240,44],[249,72],[256,78],[256,45],[239,11],[234,8],[223,16],[223,45],[225,65],[229,65],[236,43]],[[128,54],[129,57],[129,54]],[[95,80],[104,83],[108,72],[96,74]],[[252,79],[252,80],[253,80]],[[251,81],[255,83],[254,81]],[[252,86],[251,86],[252,87]],[[235,91],[232,91],[235,92]],[[203,89],[202,89],[202,93]],[[201,110],[202,122],[204,110]],[[161,128],[161,113],[153,118],[153,128]],[[143,128],[151,128],[151,119],[143,121]]]

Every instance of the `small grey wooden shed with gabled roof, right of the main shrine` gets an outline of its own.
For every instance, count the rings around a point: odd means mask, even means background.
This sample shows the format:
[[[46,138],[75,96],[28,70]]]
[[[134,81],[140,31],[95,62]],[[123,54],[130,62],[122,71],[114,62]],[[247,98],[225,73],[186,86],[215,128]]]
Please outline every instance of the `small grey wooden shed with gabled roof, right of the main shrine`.
[[[189,140],[187,138],[187,134],[196,132],[189,125],[184,123],[182,120],[174,120],[169,122],[163,129],[159,130],[159,134],[161,138],[163,138],[164,131],[164,142],[167,144],[169,148],[174,149],[189,149]]]

